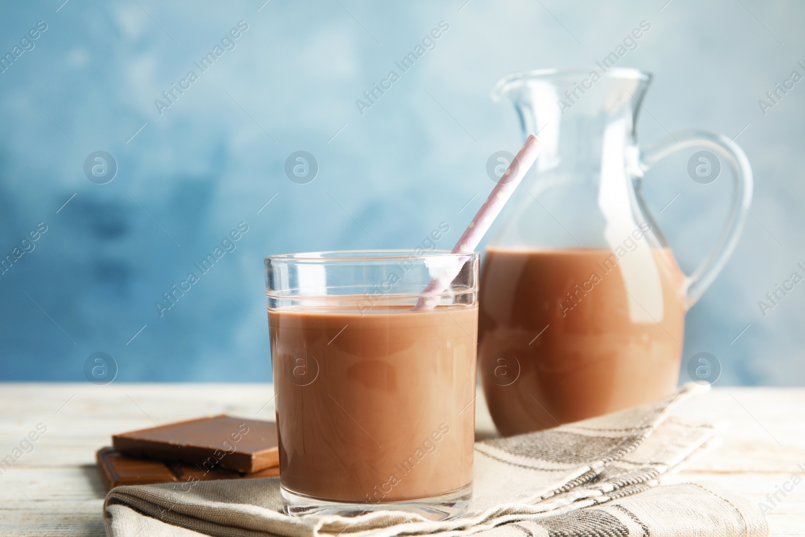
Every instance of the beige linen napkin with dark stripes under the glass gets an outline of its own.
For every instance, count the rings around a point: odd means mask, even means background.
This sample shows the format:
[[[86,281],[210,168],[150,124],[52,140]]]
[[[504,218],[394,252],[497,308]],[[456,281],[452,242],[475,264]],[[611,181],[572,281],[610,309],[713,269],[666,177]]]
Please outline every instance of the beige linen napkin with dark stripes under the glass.
[[[467,512],[444,521],[376,511],[289,517],[279,478],[120,486],[104,503],[107,534],[258,537],[719,535],[762,537],[756,506],[712,485],[658,486],[716,434],[710,423],[669,416],[707,390],[689,383],[654,403],[547,431],[475,446]]]

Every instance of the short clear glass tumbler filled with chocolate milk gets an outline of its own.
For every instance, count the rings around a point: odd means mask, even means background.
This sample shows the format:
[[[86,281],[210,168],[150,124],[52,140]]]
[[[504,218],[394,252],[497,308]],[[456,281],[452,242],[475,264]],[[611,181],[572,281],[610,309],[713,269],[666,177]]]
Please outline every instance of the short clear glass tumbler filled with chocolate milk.
[[[288,514],[455,516],[473,487],[479,254],[265,258]],[[432,309],[419,293],[459,274]]]

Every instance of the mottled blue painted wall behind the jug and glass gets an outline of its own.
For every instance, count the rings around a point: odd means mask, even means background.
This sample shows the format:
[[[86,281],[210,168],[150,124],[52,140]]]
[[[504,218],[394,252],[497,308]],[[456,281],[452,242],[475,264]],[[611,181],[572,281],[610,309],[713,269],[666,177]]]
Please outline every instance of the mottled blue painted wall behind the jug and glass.
[[[756,179],[736,253],[687,316],[683,358],[714,354],[720,384],[805,381],[805,283],[758,307],[805,262],[805,82],[765,115],[758,105],[805,74],[802,2],[62,2],[0,19],[2,55],[47,23],[0,74],[0,255],[47,225],[0,275],[0,379],[83,380],[96,352],[118,381],[270,379],[263,255],[412,247],[440,221],[451,246],[492,186],[486,159],[521,142],[494,83],[593,64],[646,20],[619,64],[655,75],[638,138],[740,134]],[[436,49],[361,115],[355,101],[442,20]],[[155,99],[239,21],[235,48],[160,115]],[[284,172],[300,150],[320,166],[309,184]],[[108,184],[85,176],[93,151],[118,163]],[[679,193],[658,221],[691,271],[730,197],[727,180],[694,183],[687,156],[650,171],[646,197],[657,214]],[[160,316],[155,301],[239,222],[236,250]]]

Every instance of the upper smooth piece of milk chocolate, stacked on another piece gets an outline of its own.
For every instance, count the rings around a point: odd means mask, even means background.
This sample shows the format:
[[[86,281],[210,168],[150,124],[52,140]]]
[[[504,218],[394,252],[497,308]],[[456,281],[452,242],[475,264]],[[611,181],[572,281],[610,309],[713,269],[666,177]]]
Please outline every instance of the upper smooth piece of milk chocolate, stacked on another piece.
[[[217,415],[112,436],[126,456],[254,473],[279,465],[277,427],[270,421]]]

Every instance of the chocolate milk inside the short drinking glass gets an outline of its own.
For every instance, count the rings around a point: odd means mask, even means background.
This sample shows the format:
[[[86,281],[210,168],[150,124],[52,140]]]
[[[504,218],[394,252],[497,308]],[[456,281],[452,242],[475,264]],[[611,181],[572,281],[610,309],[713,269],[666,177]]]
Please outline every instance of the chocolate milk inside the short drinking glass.
[[[280,480],[400,502],[473,480],[477,308],[269,311]]]

